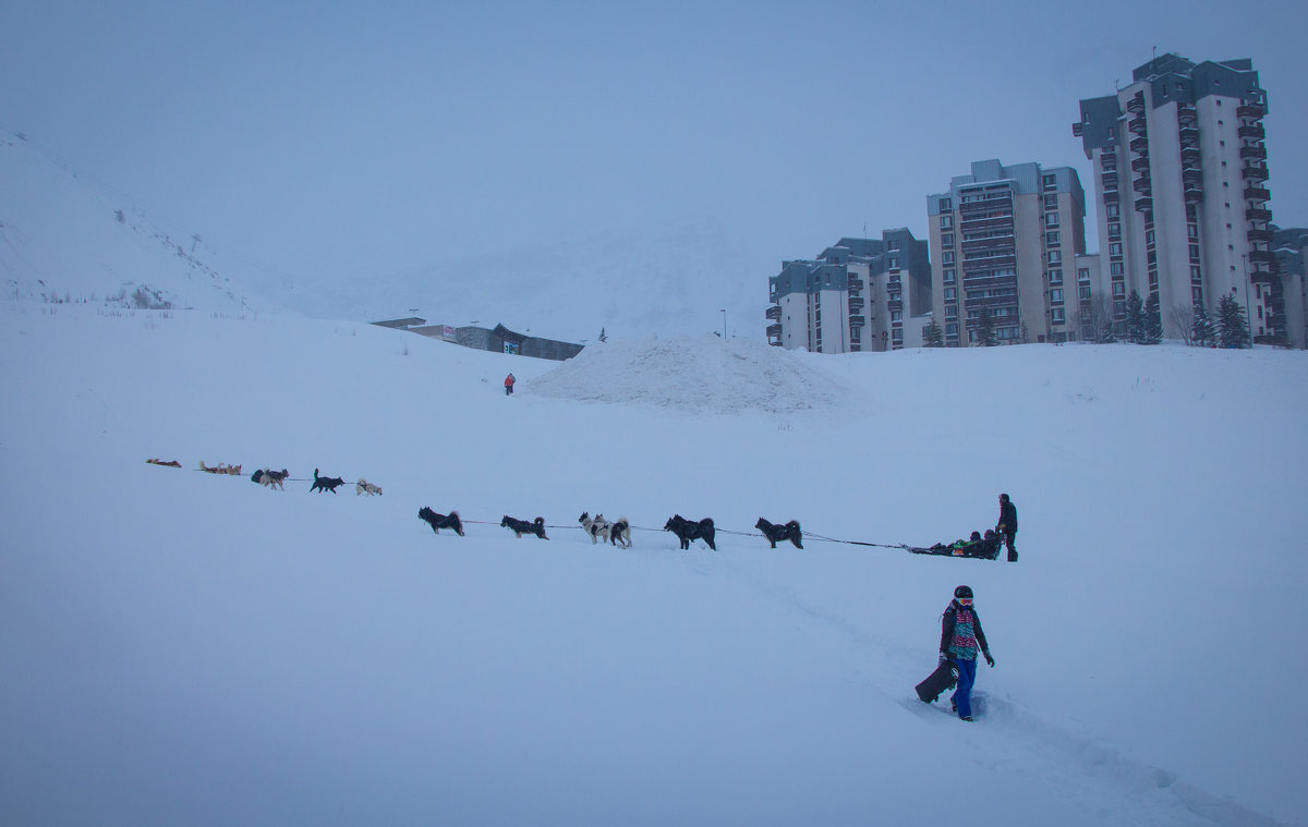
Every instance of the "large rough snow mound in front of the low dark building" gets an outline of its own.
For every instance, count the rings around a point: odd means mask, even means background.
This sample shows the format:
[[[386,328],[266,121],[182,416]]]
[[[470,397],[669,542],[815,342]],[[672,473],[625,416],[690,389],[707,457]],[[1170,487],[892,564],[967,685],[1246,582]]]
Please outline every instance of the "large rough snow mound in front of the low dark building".
[[[525,382],[522,389],[560,399],[637,403],[695,414],[825,410],[850,394],[795,353],[712,334],[591,345]]]

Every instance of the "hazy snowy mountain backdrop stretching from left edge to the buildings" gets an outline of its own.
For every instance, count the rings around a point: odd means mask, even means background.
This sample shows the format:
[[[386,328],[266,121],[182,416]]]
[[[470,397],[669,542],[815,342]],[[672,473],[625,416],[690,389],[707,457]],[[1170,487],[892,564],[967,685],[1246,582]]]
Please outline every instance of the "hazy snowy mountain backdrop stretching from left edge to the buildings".
[[[207,238],[0,131],[0,273],[8,298],[209,313],[293,313],[494,327],[548,339],[701,335],[727,326],[763,339],[768,272],[743,264],[719,226],[668,224],[625,234],[415,263],[402,272],[328,279],[271,272],[239,238]],[[780,262],[778,262],[780,266]],[[726,314],[723,315],[723,310]]]

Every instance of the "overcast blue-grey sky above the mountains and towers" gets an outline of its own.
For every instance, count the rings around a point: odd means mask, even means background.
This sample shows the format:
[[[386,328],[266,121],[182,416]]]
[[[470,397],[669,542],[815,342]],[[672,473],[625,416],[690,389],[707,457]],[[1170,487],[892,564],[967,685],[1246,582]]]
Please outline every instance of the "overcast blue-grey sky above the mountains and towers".
[[[1271,207],[1308,225],[1305,9],[0,0],[0,126],[297,279],[691,220],[765,284],[865,226],[925,237],[974,160],[1092,190],[1078,101],[1155,47],[1253,59]]]

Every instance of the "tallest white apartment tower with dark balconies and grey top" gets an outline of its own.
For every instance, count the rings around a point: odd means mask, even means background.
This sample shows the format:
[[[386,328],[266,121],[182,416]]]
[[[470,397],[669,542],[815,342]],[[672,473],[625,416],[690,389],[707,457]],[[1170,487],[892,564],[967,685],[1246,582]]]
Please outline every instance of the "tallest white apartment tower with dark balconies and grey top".
[[[1266,93],[1249,60],[1162,55],[1116,94],[1080,102],[1073,133],[1093,162],[1100,256],[1118,332],[1126,297],[1156,296],[1168,338],[1231,294],[1254,342],[1286,342],[1271,251]]]

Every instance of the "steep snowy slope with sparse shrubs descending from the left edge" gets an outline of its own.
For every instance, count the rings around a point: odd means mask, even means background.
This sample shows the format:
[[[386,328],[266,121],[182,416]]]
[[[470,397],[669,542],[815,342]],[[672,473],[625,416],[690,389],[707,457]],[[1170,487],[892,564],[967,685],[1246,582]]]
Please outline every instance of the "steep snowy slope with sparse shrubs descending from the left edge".
[[[0,130],[0,275],[9,300],[110,308],[276,309],[196,233]],[[239,268],[234,268],[239,270]]]

